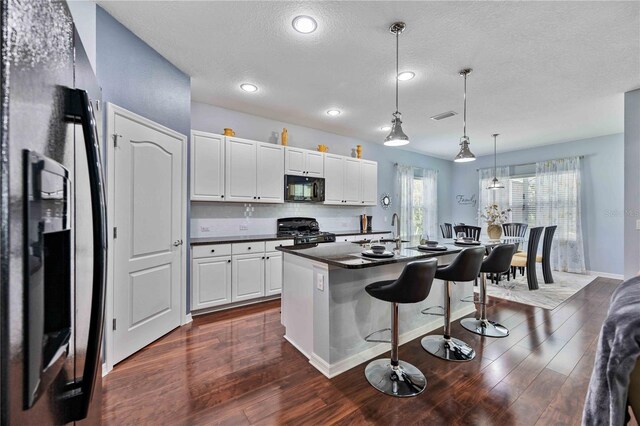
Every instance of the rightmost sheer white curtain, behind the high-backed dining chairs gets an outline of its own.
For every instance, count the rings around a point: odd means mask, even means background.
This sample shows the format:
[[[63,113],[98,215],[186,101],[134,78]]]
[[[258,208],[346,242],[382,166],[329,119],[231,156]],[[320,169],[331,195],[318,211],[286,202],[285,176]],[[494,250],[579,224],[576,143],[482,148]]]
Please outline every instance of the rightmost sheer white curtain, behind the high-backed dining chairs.
[[[558,226],[551,245],[551,267],[584,274],[580,185],[579,157],[536,163],[537,225]]]

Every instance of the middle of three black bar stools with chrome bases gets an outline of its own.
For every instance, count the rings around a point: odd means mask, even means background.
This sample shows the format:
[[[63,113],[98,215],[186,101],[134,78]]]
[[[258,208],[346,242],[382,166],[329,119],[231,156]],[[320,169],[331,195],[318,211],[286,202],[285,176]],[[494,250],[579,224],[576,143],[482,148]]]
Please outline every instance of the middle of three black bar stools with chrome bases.
[[[436,278],[444,281],[444,334],[425,336],[421,340],[425,351],[447,361],[471,361],[476,352],[471,346],[451,337],[451,282],[474,281],[480,273],[484,247],[470,247],[463,250],[447,266],[436,270]]]

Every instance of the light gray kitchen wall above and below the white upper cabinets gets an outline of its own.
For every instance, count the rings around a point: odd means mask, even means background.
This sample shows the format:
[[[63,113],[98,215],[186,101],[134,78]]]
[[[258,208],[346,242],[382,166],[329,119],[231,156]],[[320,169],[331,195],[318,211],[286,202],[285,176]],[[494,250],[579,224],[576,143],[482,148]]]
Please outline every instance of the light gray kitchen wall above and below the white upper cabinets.
[[[275,206],[254,205],[254,217],[285,217],[302,213],[311,214],[318,218],[341,216],[356,218],[359,214],[366,212],[373,215],[375,229],[391,229],[391,215],[394,211],[397,211],[398,206],[397,194],[395,194],[394,163],[438,170],[438,217],[446,218],[451,214],[451,205],[446,201],[450,198],[449,194],[451,193],[451,161],[198,102],[191,104],[191,126],[194,130],[212,133],[222,133],[223,128],[230,127],[234,129],[238,137],[265,142],[275,142],[277,139],[275,134],[279,135],[282,128],[286,127],[289,133],[290,146],[315,149],[318,144],[325,144],[329,146],[329,152],[339,155],[351,155],[352,148],[360,144],[362,145],[362,157],[378,162],[378,194],[389,193],[392,195],[392,206],[388,210],[382,209],[379,205],[367,208],[322,205],[304,207],[290,203]],[[380,132],[381,140],[385,136],[384,132]],[[194,202],[191,209],[192,218],[195,219],[210,217],[233,218],[242,217],[244,206],[232,203]]]

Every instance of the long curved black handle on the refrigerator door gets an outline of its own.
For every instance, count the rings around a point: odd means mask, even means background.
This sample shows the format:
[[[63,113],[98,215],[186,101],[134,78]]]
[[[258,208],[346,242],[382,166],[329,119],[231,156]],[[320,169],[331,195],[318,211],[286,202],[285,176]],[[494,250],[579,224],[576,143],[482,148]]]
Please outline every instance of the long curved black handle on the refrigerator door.
[[[91,215],[93,222],[93,286],[87,354],[82,377],[70,383],[66,400],[70,418],[67,422],[85,418],[89,411],[95,387],[95,377],[100,366],[102,327],[105,310],[105,285],[107,273],[107,214],[104,174],[100,156],[100,144],[93,107],[89,95],[81,89],[67,89],[66,117],[82,124],[87,152],[89,185],[91,188]]]

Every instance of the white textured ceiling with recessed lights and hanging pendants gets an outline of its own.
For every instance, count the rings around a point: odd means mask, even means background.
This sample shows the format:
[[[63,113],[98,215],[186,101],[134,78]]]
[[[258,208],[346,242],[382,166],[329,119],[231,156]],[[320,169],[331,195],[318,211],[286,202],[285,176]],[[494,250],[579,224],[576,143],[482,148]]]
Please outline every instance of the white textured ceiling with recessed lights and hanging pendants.
[[[623,131],[623,93],[640,87],[638,2],[98,1],[192,77],[192,99],[382,143],[400,111],[409,149],[452,158],[462,78],[476,155]],[[299,34],[300,14],[318,30]],[[240,83],[259,87],[245,93]],[[329,117],[331,108],[342,110]],[[429,117],[453,110],[442,121]]]

